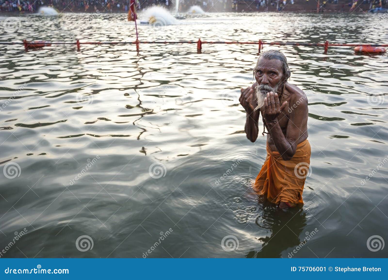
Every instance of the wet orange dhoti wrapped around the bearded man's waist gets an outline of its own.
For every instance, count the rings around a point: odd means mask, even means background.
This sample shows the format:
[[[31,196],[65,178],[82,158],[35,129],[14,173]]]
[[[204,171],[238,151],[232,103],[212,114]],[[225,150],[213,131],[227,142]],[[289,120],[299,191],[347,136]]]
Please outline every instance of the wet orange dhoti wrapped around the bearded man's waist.
[[[267,157],[253,184],[253,190],[275,204],[303,204],[302,193],[310,156],[311,147],[307,139],[296,146],[296,152],[289,161],[282,159],[279,152],[270,150],[267,145]]]

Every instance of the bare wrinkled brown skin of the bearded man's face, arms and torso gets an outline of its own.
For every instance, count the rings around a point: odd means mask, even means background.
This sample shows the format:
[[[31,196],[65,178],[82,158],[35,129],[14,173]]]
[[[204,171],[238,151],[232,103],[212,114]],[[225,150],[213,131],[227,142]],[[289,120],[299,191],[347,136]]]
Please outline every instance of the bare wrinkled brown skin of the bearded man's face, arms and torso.
[[[300,88],[284,80],[281,60],[259,58],[254,75],[256,83],[245,90],[241,89],[239,99],[246,111],[246,136],[251,142],[256,141],[261,113],[267,123],[267,145],[272,151],[279,152],[285,161],[290,160],[296,152],[296,145],[308,137],[307,97]],[[255,111],[257,107],[256,86],[269,85],[276,88],[279,83],[281,85],[278,92],[267,93],[264,105],[260,110]],[[283,85],[285,87],[282,104],[280,104],[279,96]],[[281,202],[279,207],[287,208],[288,206]]]

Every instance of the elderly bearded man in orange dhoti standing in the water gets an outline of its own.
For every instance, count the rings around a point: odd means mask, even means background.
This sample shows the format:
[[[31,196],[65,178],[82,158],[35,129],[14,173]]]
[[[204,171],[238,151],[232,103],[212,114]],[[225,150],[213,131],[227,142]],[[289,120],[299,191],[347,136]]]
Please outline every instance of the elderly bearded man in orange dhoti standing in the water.
[[[263,52],[253,75],[256,83],[241,89],[240,103],[246,111],[245,133],[251,142],[256,141],[260,113],[262,134],[267,133],[267,157],[253,190],[280,208],[303,204],[311,155],[307,140],[307,97],[287,82],[291,73],[286,57],[278,50]]]

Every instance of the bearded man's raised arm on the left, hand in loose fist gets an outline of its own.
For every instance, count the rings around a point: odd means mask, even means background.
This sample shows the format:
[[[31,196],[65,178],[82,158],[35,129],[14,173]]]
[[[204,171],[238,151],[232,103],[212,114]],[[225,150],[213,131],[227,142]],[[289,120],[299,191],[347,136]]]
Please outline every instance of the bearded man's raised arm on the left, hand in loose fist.
[[[255,142],[259,133],[258,121],[260,116],[260,110],[255,110],[257,106],[257,100],[255,98],[255,86],[253,84],[250,88],[245,90],[241,89],[241,97],[239,99],[242,107],[246,112],[245,122],[245,133],[246,137],[251,141]]]

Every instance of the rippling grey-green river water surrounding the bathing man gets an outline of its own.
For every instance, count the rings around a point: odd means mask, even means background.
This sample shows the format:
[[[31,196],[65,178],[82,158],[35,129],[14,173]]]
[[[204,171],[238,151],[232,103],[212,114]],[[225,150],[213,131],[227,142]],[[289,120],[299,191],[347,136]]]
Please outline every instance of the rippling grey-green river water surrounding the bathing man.
[[[2,41],[135,38],[125,14],[18,19]],[[220,13],[138,28],[140,40],[388,43],[386,25]],[[285,211],[250,190],[265,138],[262,126],[246,138],[238,98],[257,45],[2,46],[2,257],[387,257],[376,243],[388,240],[387,56],[270,48],[309,102],[305,204]]]

